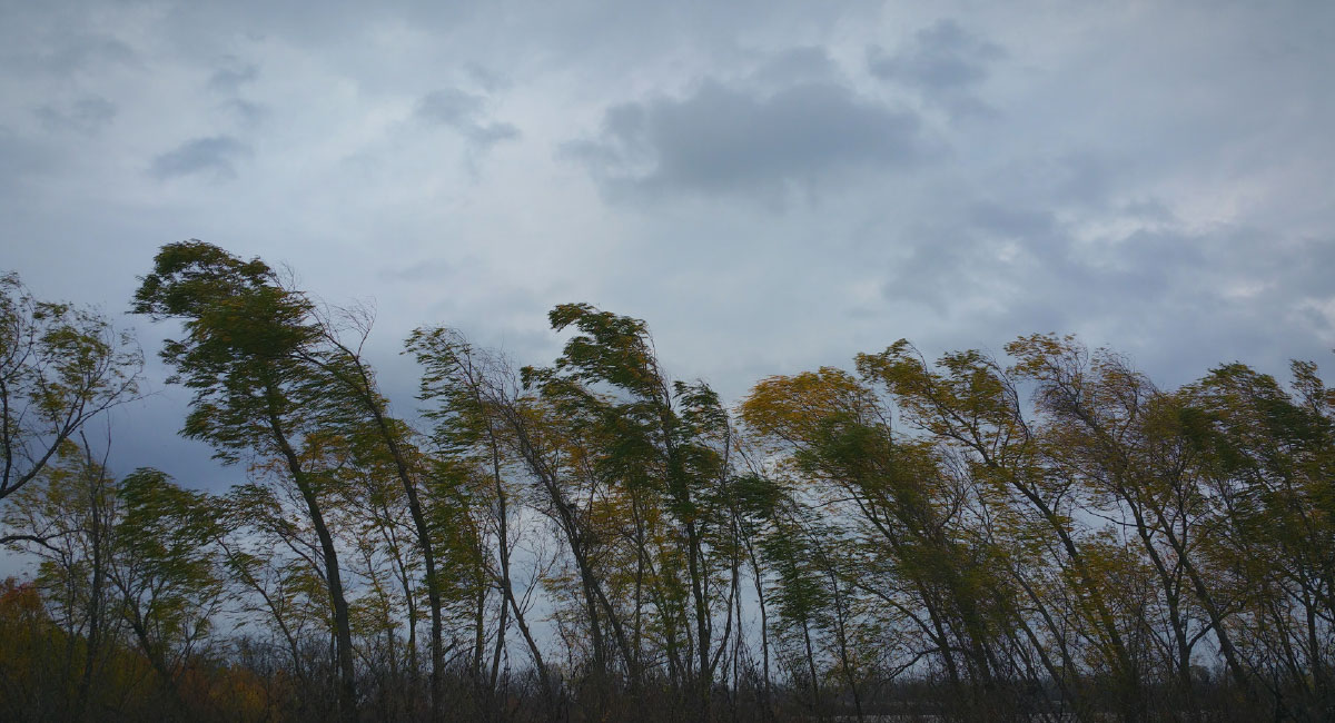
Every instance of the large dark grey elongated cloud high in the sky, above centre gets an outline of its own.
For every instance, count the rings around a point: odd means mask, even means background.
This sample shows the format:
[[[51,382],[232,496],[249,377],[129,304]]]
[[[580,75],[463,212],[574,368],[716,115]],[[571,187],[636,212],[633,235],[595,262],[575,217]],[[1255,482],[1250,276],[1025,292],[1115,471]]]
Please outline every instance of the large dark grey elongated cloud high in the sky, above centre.
[[[813,57],[790,60],[818,69]],[[773,199],[790,185],[837,185],[849,171],[910,167],[926,144],[914,115],[836,81],[766,93],[712,80],[685,97],[613,105],[597,137],[565,151],[613,192]]]

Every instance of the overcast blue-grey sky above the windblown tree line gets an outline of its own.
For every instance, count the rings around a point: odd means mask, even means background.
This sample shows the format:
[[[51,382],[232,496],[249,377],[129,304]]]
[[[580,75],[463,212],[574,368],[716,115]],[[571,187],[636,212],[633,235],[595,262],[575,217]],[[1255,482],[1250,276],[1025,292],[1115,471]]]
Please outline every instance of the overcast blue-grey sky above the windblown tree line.
[[[196,237],[521,363],[646,319],[680,378],[1075,332],[1164,386],[1335,370],[1335,4],[0,0],[0,269],[128,305]],[[154,356],[172,329],[134,325]],[[116,416],[112,464],[239,471]]]

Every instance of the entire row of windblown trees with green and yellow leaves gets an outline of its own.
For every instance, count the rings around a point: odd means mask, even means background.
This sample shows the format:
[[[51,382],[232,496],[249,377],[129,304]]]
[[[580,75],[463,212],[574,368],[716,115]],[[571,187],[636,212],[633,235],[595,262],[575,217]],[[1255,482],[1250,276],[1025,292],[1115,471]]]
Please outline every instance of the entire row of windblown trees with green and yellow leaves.
[[[1335,715],[1308,363],[1164,391],[1072,337],[898,341],[729,411],[643,321],[566,304],[546,367],[415,331],[414,424],[368,313],[186,241],[134,309],[182,324],[183,434],[246,471],[212,495],[79,436],[136,394],[131,340],[4,299],[0,514],[41,560],[0,590],[8,719]]]

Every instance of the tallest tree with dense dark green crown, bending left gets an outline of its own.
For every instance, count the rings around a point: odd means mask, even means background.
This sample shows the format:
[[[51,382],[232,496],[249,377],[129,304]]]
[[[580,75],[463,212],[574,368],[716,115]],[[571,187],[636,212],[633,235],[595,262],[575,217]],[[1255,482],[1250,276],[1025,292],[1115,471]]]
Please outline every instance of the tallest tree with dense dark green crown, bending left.
[[[135,292],[134,311],[182,320],[186,336],[168,340],[163,360],[172,380],[195,392],[182,434],[210,443],[215,456],[278,459],[300,492],[319,539],[332,611],[339,714],[356,718],[356,687],[347,594],[334,534],[326,524],[328,475],[304,443],[326,423],[350,414],[304,351],[320,339],[311,303],[283,288],[263,261],[244,261],[200,241],[168,244]]]

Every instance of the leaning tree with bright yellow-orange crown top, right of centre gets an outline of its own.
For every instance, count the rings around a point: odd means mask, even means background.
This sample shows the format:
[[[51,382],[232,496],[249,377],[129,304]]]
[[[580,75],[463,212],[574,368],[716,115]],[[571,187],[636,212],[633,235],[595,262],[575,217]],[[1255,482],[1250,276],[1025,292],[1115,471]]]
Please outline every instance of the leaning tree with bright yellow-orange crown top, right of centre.
[[[930,447],[896,439],[890,411],[873,388],[838,370],[766,379],[742,404],[742,415],[788,455],[788,470],[797,475],[789,483],[797,506],[786,515],[792,531],[769,547],[773,566],[788,571],[777,591],[781,611],[798,615],[808,658],[809,628],[817,623],[830,634],[837,668],[857,703],[849,651],[856,588],[888,612],[880,630],[917,628],[924,643],[906,651],[910,663],[922,656],[939,662],[957,695],[967,692],[965,684],[980,694],[993,687],[1004,676],[999,648],[1013,622],[999,595],[1001,583],[989,574],[993,551],[972,530],[977,499],[968,480],[952,475]],[[800,511],[817,504],[840,510],[849,524],[822,531],[804,522]],[[840,527],[852,534],[842,547],[853,554],[842,559],[826,542],[838,539]],[[794,570],[800,562],[806,571]],[[825,580],[801,594],[813,572]],[[816,666],[808,666],[814,684]]]

